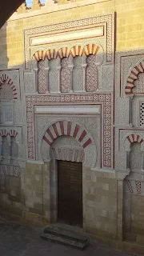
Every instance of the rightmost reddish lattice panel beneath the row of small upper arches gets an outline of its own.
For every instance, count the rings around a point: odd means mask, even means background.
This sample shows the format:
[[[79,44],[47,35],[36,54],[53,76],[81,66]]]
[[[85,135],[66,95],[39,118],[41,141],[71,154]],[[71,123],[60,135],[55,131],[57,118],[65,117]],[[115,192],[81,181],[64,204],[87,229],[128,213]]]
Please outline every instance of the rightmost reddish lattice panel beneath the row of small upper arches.
[[[95,65],[96,56],[94,54],[90,54],[86,61],[86,91],[95,91],[97,90],[97,66]]]

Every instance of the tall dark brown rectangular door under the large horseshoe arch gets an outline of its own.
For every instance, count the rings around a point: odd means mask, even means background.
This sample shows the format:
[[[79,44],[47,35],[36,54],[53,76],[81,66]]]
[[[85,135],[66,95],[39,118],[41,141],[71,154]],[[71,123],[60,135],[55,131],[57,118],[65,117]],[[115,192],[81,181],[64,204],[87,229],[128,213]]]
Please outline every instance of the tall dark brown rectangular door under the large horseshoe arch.
[[[58,161],[58,222],[82,227],[82,162]]]

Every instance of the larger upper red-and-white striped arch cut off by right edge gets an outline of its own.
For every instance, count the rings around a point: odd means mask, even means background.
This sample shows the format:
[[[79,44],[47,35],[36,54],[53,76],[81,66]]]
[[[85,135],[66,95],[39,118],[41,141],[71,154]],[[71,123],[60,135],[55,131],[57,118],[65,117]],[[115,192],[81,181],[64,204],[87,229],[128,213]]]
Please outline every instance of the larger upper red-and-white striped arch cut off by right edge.
[[[134,81],[138,79],[139,73],[144,73],[144,61],[140,62],[137,66],[134,66],[133,70],[130,71],[126,81],[125,94],[133,94],[132,89],[134,87]]]

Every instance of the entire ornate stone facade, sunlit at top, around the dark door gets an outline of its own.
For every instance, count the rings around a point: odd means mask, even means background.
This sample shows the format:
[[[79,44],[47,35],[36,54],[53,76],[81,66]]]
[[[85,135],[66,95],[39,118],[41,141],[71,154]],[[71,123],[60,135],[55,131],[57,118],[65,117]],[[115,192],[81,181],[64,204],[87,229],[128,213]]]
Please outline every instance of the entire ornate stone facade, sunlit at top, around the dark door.
[[[82,162],[83,230],[143,254],[143,9],[34,1],[0,30],[6,218],[57,222],[57,161]]]

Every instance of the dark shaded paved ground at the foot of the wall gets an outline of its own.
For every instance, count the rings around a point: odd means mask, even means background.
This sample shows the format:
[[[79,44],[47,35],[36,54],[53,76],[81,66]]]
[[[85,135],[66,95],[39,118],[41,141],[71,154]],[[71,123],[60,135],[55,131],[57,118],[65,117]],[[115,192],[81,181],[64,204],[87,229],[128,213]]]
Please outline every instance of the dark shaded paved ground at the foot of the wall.
[[[130,256],[99,244],[76,250],[42,240],[41,233],[0,219],[0,256]]]

